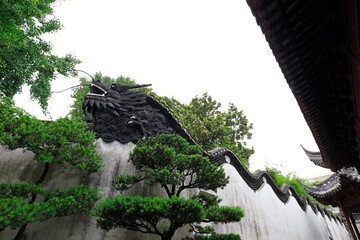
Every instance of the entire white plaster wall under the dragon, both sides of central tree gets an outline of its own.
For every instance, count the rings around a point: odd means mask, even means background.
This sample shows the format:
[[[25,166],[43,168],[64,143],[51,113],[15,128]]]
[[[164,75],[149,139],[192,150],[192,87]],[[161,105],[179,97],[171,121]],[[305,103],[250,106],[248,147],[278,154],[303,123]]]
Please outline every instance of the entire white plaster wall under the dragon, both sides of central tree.
[[[50,168],[44,186],[48,189],[65,189],[73,184],[87,184],[99,187],[104,197],[119,195],[111,186],[111,181],[120,174],[133,174],[135,170],[128,157],[134,144],[120,144],[119,142],[105,143],[97,141],[97,150],[103,154],[101,172],[87,176],[82,171],[71,166],[53,165]],[[43,165],[32,160],[31,152],[21,149],[9,152],[0,148],[0,181],[30,181],[34,182],[41,174]],[[310,207],[304,212],[296,200],[291,197],[282,203],[270,185],[254,192],[247,186],[236,169],[224,165],[230,183],[217,194],[223,199],[222,205],[240,206],[245,211],[245,217],[239,223],[216,225],[220,233],[239,233],[243,240],[266,239],[350,239],[343,225],[334,220],[315,214]],[[159,187],[149,188],[139,185],[128,190],[124,195],[163,195]],[[194,192],[183,194],[190,196]],[[174,239],[181,239],[186,230],[177,232]],[[28,239],[31,240],[115,240],[115,239],[159,239],[149,234],[140,234],[123,229],[102,231],[96,228],[95,218],[87,214],[78,214],[69,217],[53,218],[42,223],[31,223],[27,228]],[[6,230],[0,234],[0,239],[12,239],[16,231]],[[331,238],[330,238],[331,236]]]

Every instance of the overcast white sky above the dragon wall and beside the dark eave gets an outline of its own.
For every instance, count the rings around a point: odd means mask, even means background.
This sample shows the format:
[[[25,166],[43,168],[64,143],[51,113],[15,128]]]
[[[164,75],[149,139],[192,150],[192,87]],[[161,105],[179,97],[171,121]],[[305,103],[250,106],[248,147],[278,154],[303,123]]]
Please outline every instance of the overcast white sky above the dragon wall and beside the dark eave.
[[[129,76],[182,102],[208,92],[224,107],[233,102],[244,110],[254,124],[252,171],[267,163],[301,177],[326,172],[300,147],[318,150],[246,1],[68,0],[57,3],[55,14],[64,28],[49,36],[54,53],[73,53],[82,61],[78,69]],[[59,78],[53,90],[77,83]],[[53,95],[53,119],[66,116],[70,94]],[[26,88],[15,99],[45,118]]]

